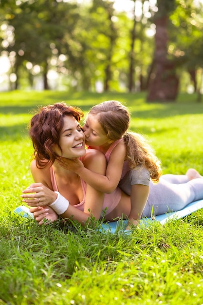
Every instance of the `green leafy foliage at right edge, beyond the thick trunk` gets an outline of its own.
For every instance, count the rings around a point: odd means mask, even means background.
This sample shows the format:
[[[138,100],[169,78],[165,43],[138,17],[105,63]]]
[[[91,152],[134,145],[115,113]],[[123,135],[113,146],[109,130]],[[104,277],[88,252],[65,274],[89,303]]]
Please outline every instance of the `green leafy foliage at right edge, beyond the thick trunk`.
[[[170,19],[174,26],[170,39],[173,42],[168,51],[177,60],[183,63],[179,74],[187,71],[194,92],[201,98],[202,68],[203,68],[203,24],[202,12],[203,4],[192,0],[180,1],[180,5],[171,14]],[[178,33],[178,35],[177,35]],[[199,76],[200,77],[197,77]],[[200,79],[198,79],[200,78]]]

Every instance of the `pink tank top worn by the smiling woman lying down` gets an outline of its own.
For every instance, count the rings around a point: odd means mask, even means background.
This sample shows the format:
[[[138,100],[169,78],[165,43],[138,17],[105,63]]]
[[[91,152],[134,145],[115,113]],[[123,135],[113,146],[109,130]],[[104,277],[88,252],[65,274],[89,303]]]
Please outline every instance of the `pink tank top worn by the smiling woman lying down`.
[[[53,170],[53,167],[50,168],[50,174],[51,174],[51,182],[52,182],[53,190],[58,191],[57,183],[55,180],[55,172]],[[82,202],[74,205],[74,207],[77,208],[78,210],[84,211],[85,193],[86,193],[87,185],[84,180],[80,179],[80,181],[81,181],[81,186],[82,186],[82,191],[83,191],[83,200],[82,200]],[[121,199],[121,190],[119,188],[116,188],[115,191],[113,191],[111,194],[104,195],[104,203],[103,203],[102,210],[105,210],[107,208],[106,215],[108,215],[112,210],[114,210],[114,208],[119,203],[120,199]],[[95,202],[95,204],[96,204],[96,202]],[[101,217],[102,216],[103,215],[101,215]]]

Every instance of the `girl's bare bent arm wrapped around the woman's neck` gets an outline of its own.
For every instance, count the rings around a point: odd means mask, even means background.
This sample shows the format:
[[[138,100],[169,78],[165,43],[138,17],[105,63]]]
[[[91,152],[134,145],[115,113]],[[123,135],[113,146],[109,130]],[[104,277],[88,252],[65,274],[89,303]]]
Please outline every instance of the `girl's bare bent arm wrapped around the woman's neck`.
[[[76,172],[95,190],[111,193],[115,190],[120,181],[125,155],[125,144],[120,142],[111,152],[109,163],[107,165],[106,175],[101,175],[95,171],[90,171],[82,164],[82,162],[79,162],[78,160],[72,161],[69,159],[61,158],[58,160],[58,162],[64,169]]]

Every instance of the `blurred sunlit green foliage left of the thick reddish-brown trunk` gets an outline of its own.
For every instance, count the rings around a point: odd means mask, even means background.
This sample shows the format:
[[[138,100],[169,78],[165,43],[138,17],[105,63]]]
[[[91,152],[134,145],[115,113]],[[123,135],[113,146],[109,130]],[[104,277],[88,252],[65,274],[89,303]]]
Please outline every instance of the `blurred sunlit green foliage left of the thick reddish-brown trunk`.
[[[92,0],[89,5],[84,1],[0,1],[0,25],[6,27],[4,31],[0,27],[0,39],[5,40],[0,51],[10,56],[9,74],[17,75],[18,89],[28,86],[19,80],[26,77],[22,70],[33,88],[36,74],[46,76],[53,69],[63,76],[65,86],[77,90],[95,91],[99,80],[110,91],[126,91],[132,22],[126,12],[113,9],[112,1]],[[133,50],[136,81],[141,74],[147,77],[151,63],[153,42],[145,33],[149,27],[143,15],[137,22]],[[39,65],[40,73],[26,68],[26,63]]]

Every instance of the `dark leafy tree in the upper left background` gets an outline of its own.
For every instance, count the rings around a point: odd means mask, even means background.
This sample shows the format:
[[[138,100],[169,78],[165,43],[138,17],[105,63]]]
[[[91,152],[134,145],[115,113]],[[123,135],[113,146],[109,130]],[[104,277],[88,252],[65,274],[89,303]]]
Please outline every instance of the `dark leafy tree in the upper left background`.
[[[14,28],[14,40],[9,43],[6,50],[8,53],[16,53],[16,89],[19,68],[24,61],[40,66],[44,89],[49,89],[47,73],[53,57],[51,44],[58,47],[55,53],[62,49],[66,33],[72,33],[75,26],[78,16],[77,5],[57,0],[18,1],[15,5],[10,5],[9,0],[0,4],[6,12],[6,22]],[[66,52],[68,51],[67,48]]]

